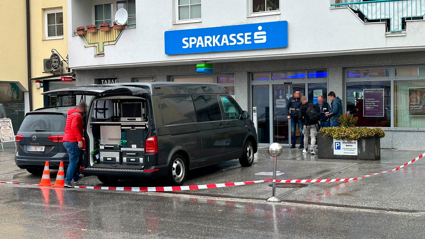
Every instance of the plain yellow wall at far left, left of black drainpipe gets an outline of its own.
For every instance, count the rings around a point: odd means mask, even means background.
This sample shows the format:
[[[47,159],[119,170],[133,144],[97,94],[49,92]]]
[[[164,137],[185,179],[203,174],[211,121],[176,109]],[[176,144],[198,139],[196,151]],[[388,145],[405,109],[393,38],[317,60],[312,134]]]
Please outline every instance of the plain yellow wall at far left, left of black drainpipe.
[[[18,82],[21,90],[28,91],[26,1],[15,0],[12,5],[0,7],[4,33],[0,37],[0,82]]]

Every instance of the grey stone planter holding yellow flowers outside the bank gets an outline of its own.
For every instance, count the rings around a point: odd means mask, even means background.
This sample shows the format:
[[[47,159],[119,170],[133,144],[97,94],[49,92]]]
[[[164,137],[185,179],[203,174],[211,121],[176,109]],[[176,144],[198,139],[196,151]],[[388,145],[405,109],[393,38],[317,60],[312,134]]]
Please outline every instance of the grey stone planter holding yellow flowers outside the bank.
[[[376,137],[357,140],[357,155],[334,155],[334,139],[317,132],[317,148],[319,159],[377,160],[381,158],[381,139]]]

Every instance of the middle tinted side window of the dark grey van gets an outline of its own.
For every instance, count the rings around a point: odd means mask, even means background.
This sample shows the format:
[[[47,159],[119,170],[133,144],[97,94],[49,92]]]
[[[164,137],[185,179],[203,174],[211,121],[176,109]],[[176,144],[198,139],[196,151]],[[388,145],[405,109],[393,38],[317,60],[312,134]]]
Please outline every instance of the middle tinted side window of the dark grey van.
[[[198,122],[221,120],[221,110],[216,95],[197,95],[193,96],[196,117]]]

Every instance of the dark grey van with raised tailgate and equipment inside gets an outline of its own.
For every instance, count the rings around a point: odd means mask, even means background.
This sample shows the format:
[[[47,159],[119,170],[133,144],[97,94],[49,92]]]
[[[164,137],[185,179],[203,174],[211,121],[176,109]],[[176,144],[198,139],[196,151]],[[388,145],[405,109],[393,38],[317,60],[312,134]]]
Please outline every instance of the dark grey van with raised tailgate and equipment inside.
[[[48,91],[93,96],[85,116],[81,173],[104,183],[167,177],[230,159],[252,165],[257,133],[248,112],[212,83],[116,83]]]

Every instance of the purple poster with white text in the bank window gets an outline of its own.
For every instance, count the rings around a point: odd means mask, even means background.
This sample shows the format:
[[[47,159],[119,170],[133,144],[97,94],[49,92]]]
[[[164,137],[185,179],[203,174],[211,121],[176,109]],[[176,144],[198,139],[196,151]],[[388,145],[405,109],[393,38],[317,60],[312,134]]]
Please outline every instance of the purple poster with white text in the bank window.
[[[384,89],[363,89],[363,116],[384,116]]]

